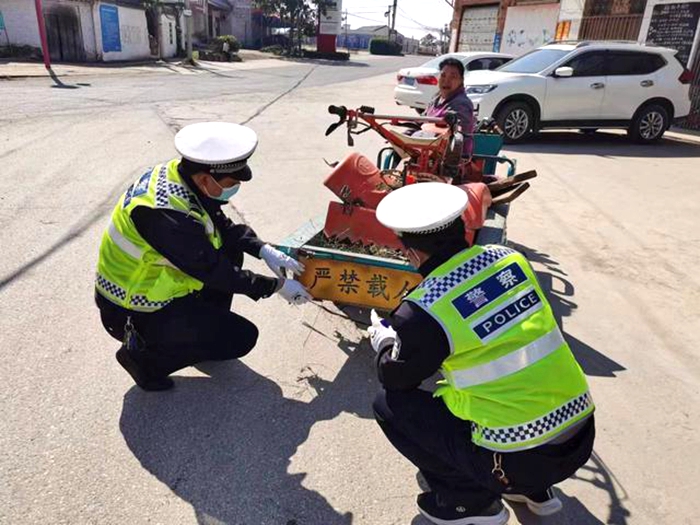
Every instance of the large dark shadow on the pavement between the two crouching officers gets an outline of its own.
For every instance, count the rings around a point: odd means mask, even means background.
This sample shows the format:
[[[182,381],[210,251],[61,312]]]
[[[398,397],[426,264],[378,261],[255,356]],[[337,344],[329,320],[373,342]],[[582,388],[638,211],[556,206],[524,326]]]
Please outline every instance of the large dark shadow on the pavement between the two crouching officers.
[[[335,334],[338,337],[338,334]],[[376,389],[367,349],[341,338],[348,358],[332,381],[305,367],[293,398],[240,361],[207,363],[210,377],[124,397],[120,429],[141,465],[190,503],[198,523],[349,525],[322,494],[288,472],[311,427],[343,412],[372,418]],[[309,398],[300,401],[297,397]]]

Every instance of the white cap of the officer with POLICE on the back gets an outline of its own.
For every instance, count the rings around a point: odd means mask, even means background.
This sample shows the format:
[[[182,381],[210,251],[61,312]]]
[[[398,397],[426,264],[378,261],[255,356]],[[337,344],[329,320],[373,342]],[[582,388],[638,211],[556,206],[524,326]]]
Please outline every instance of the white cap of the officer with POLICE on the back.
[[[398,233],[444,230],[467,208],[467,192],[442,182],[419,182],[394,190],[377,206],[377,220]]]

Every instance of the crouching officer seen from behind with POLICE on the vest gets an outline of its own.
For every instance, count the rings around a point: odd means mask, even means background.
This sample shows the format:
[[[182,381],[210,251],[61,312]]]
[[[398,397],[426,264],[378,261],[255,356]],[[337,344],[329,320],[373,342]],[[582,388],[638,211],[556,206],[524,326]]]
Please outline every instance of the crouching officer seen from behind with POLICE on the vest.
[[[377,422],[421,471],[433,523],[505,525],[501,498],[538,515],[562,503],[552,485],[588,460],[593,401],[528,261],[465,242],[466,193],[403,187],[377,207],[425,277],[389,319],[372,312],[382,390]],[[435,393],[419,388],[440,371]]]

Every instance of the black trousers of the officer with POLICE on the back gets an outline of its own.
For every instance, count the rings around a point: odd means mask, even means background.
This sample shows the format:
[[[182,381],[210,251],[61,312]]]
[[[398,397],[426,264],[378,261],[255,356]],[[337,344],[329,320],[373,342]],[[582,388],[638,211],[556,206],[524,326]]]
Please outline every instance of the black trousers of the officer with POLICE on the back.
[[[381,390],[374,413],[394,447],[448,504],[478,512],[504,492],[533,495],[571,477],[593,450],[593,416],[561,444],[498,454],[508,484],[492,474],[494,452],[471,442],[471,423],[425,390]]]

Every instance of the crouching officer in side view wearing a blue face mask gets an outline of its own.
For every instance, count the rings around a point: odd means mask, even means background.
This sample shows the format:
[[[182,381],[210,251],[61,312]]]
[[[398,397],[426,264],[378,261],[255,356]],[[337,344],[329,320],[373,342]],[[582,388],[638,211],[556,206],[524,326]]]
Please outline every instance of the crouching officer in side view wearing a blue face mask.
[[[107,332],[122,341],[117,361],[145,390],[201,361],[250,352],[257,327],[231,312],[234,294],[275,293],[301,304],[310,296],[287,272],[303,266],[265,244],[221,206],[252,178],[253,130],[206,122],[175,136],[182,159],[146,170],[122,195],[100,245],[96,301]],[[262,258],[275,277],[243,269]]]

